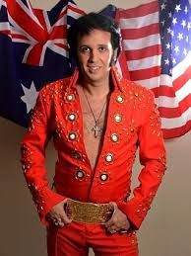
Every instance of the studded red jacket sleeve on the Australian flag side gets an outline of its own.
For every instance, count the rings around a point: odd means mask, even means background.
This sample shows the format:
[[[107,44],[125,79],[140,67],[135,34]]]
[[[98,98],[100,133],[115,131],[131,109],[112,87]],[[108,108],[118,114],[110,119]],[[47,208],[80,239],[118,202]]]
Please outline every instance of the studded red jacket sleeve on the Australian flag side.
[[[32,192],[32,199],[37,212],[44,224],[46,213],[64,200],[64,197],[53,192],[48,187],[45,168],[45,148],[51,136],[50,102],[45,97],[43,88],[38,95],[36,105],[32,112],[30,127],[22,141],[22,166],[28,186]]]

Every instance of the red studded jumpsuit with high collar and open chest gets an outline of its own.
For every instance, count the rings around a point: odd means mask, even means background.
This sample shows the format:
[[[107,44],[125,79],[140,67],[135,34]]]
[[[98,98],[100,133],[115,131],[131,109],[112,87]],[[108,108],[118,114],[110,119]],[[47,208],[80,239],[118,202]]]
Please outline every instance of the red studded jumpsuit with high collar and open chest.
[[[165,170],[165,149],[153,94],[132,81],[118,79],[113,68],[110,73],[114,90],[95,170],[85,150],[76,89],[78,71],[39,92],[30,128],[22,141],[22,163],[37,211],[46,224],[46,213],[65,198],[71,198],[81,202],[115,202],[138,229],[159,188]],[[55,191],[48,187],[44,166],[45,147],[51,136],[58,153]],[[140,185],[129,199],[138,147],[143,169]],[[77,222],[63,228],[49,226],[47,230],[49,256],[86,255],[88,246],[94,247],[98,255],[138,255],[135,230],[108,235],[98,224]],[[72,242],[74,246],[64,247],[64,243]],[[77,250],[73,251],[75,247]]]

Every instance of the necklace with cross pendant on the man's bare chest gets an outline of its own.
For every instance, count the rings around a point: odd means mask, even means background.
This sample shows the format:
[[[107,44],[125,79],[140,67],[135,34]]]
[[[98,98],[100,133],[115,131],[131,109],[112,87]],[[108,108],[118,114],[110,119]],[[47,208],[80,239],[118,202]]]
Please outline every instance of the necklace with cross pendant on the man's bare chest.
[[[90,101],[89,101],[89,99],[88,99],[88,96],[87,96],[87,94],[85,93],[84,87],[83,87],[83,93],[84,93],[84,95],[85,95],[85,98],[86,98],[86,100],[87,100],[87,103],[88,103],[88,105],[89,105],[89,108],[90,108],[90,110],[91,110],[91,113],[92,113],[92,115],[93,115],[93,118],[94,118],[94,120],[95,120],[95,126],[94,126],[91,130],[95,132],[95,137],[97,137],[98,135],[100,135],[100,134],[102,133],[102,128],[98,126],[98,122],[99,122],[99,119],[100,119],[100,117],[101,117],[101,115],[102,115],[102,113],[103,113],[104,107],[105,107],[105,105],[106,105],[106,100],[105,100],[105,102],[104,102],[104,104],[103,104],[103,106],[102,106],[102,109],[101,109],[101,111],[100,111],[100,113],[99,113],[99,115],[98,115],[98,118],[96,119],[95,113],[94,113],[94,111],[93,111],[93,108],[91,107],[91,103],[90,103]]]

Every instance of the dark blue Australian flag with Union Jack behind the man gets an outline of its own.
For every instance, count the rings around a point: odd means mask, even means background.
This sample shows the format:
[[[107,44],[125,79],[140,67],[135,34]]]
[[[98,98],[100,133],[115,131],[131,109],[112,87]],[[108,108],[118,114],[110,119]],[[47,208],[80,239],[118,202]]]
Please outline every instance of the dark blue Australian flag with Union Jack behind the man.
[[[40,88],[68,76],[67,28],[84,12],[61,0],[50,11],[29,0],[0,2],[0,116],[28,126]]]

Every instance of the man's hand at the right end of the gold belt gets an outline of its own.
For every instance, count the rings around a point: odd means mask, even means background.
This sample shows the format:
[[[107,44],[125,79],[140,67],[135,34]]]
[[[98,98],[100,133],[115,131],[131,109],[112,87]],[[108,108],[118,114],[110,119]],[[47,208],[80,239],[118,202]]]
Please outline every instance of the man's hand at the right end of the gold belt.
[[[130,222],[127,216],[118,209],[115,203],[111,202],[110,204],[113,206],[114,212],[111,218],[103,224],[106,230],[109,233],[127,232],[130,228]]]

